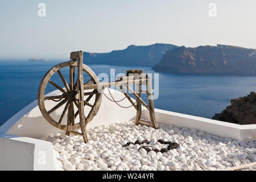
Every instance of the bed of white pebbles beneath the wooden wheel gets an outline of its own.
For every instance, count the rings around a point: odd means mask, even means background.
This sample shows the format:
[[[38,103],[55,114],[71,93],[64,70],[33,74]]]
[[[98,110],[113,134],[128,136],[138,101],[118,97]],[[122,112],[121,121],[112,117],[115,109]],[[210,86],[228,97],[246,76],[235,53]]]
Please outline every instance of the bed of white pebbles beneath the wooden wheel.
[[[129,121],[89,129],[87,143],[79,135],[60,133],[47,136],[47,140],[60,153],[65,170],[212,171],[256,162],[256,140],[233,140],[187,127],[159,126],[156,130]],[[159,152],[168,148],[159,139],[179,146]],[[150,142],[135,144],[136,140]],[[243,170],[254,171],[256,166]]]

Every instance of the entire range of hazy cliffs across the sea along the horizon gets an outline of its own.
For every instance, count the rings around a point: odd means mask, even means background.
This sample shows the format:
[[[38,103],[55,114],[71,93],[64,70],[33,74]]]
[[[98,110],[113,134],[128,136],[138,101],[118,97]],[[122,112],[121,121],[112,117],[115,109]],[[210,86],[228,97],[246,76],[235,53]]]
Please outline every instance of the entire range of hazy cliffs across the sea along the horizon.
[[[159,43],[131,45],[108,53],[84,52],[84,63],[147,66],[168,73],[255,76],[256,49],[221,44],[195,48]]]

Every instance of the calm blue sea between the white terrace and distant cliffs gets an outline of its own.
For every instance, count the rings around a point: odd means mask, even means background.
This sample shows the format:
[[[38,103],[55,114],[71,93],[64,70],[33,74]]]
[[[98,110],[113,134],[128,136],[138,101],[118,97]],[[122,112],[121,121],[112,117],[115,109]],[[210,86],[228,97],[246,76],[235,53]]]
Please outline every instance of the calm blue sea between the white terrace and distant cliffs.
[[[48,69],[63,61],[31,63],[27,60],[0,61],[0,125],[23,107],[37,99],[38,86]],[[96,73],[107,73],[115,68],[115,74],[126,69],[142,67],[120,67],[113,65],[89,65]],[[150,67],[144,73],[156,73]],[[68,69],[63,71],[68,78]],[[58,77],[52,79],[61,85]],[[61,85],[62,86],[62,85]],[[153,86],[154,87],[154,86]],[[55,90],[47,88],[47,93]],[[256,77],[242,76],[195,76],[159,73],[159,98],[155,107],[178,113],[212,118],[230,105],[231,98],[246,96],[256,90]],[[143,99],[146,96],[143,95]]]

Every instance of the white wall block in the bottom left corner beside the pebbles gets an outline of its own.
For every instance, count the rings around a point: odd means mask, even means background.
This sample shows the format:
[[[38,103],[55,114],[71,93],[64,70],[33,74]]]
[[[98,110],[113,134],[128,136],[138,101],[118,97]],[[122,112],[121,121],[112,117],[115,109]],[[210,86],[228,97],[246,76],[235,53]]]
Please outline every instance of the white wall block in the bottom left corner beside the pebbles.
[[[0,170],[56,170],[52,143],[44,140],[0,135]],[[60,164],[59,164],[60,166]]]

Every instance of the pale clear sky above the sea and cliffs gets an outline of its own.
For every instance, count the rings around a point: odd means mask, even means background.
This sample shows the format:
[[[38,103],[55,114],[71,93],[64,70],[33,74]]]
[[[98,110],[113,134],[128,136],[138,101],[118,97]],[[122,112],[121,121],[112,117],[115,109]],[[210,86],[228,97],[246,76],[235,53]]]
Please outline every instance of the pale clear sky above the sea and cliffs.
[[[255,0],[1,0],[0,59],[68,59],[131,44],[256,48],[255,8]]]

